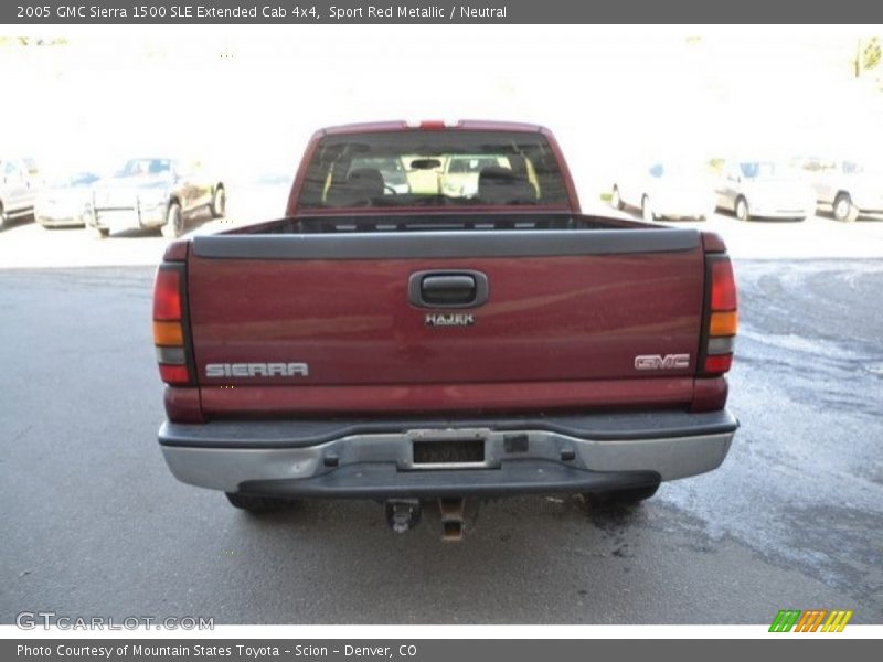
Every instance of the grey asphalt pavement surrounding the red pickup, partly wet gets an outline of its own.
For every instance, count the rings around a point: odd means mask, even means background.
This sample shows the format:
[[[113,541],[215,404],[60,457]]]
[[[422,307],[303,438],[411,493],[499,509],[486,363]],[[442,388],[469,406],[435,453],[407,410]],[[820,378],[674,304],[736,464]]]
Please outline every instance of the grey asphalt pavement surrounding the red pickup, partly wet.
[[[254,517],[177,482],[156,441],[152,268],[0,268],[0,622],[883,622],[883,260],[736,269],[742,427],[719,470],[636,509],[486,503],[443,544],[432,513],[396,535],[372,502]]]

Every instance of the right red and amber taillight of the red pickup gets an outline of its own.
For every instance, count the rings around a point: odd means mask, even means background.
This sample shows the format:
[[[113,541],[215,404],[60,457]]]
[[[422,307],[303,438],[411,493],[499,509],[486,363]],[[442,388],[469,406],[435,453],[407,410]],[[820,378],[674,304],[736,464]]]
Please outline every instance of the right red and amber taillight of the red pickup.
[[[738,312],[736,279],[730,258],[726,255],[709,255],[706,260],[710,291],[706,328],[702,334],[702,373],[712,376],[725,373],[733,364]]]

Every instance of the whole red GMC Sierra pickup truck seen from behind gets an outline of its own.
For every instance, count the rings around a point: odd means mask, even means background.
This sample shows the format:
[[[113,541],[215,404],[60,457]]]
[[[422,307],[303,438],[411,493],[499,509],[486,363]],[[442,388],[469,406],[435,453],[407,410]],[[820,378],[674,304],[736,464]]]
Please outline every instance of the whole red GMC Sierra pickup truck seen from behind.
[[[237,508],[374,499],[404,531],[438,501],[458,540],[467,498],[720,466],[736,324],[722,241],[581,214],[547,129],[325,129],[284,218],[168,247],[159,442]]]

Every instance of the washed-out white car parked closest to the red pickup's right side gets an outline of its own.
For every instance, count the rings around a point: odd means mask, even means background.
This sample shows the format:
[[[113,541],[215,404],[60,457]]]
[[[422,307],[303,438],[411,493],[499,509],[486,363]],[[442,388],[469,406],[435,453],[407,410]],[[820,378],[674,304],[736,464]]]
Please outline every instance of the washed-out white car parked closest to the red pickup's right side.
[[[645,221],[698,218],[714,211],[711,175],[699,164],[653,163],[617,180],[610,204],[641,211]]]

